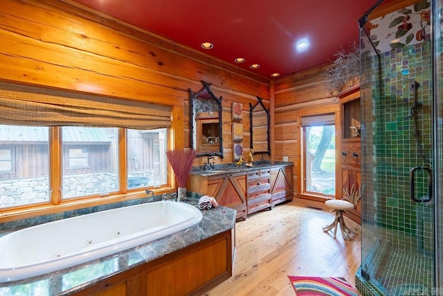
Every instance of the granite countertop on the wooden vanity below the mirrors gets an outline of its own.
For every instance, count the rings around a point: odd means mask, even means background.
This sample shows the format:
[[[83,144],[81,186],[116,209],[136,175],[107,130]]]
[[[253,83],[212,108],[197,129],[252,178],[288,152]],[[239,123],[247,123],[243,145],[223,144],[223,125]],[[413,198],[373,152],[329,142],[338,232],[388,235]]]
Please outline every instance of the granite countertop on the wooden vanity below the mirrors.
[[[246,166],[243,163],[241,166],[236,164],[217,164],[214,168],[205,169],[205,166],[193,166],[190,171],[190,175],[201,175],[201,176],[212,176],[212,175],[223,175],[226,173],[240,173],[247,171],[259,170],[260,168],[275,168],[276,166],[289,166],[293,165],[293,162],[269,162],[260,163],[260,161],[253,162],[253,166]]]

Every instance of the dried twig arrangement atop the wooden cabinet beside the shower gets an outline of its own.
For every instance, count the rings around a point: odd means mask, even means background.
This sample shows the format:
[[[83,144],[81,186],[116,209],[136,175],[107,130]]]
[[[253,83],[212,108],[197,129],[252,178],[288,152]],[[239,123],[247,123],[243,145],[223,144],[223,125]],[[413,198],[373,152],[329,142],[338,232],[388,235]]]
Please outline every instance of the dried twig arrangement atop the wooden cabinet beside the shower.
[[[349,50],[337,51],[334,57],[334,63],[325,73],[327,91],[333,96],[360,84],[359,45],[354,42]]]

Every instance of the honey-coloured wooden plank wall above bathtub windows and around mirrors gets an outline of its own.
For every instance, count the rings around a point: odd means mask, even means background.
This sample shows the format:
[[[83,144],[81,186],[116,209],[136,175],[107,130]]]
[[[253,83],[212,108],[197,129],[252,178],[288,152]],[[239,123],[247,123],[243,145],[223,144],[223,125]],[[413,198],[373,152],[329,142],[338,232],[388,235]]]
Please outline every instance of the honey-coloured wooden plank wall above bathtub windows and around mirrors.
[[[223,98],[225,157],[217,163],[233,160],[231,103],[243,105],[245,148],[248,104],[260,96],[269,105],[269,79],[69,0],[3,0],[0,40],[0,80],[172,105],[177,148],[189,146],[188,89],[197,92],[201,80],[212,83]]]

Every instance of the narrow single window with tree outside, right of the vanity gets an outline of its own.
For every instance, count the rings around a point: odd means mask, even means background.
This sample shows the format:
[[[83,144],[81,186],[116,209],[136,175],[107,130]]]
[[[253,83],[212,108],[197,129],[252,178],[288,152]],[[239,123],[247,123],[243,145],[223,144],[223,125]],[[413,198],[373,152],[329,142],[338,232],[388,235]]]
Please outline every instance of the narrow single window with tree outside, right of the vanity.
[[[329,118],[330,117],[330,118]],[[334,115],[305,120],[302,127],[302,193],[331,197],[335,195]]]

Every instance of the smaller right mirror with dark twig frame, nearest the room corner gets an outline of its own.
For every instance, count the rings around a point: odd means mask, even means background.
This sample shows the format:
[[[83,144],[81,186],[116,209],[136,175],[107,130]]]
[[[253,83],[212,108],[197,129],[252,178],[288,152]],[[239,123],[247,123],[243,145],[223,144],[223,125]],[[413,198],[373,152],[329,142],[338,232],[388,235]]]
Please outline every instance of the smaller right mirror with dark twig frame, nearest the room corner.
[[[254,154],[267,154],[271,156],[271,143],[269,141],[269,110],[263,104],[263,98],[257,96],[257,103],[249,103],[249,132],[251,133],[251,146]]]

